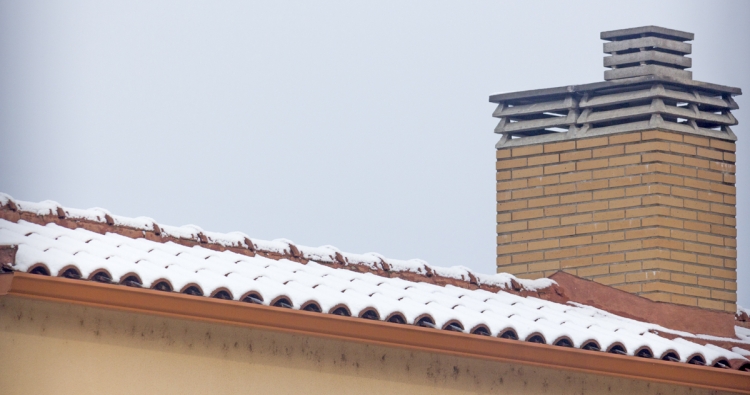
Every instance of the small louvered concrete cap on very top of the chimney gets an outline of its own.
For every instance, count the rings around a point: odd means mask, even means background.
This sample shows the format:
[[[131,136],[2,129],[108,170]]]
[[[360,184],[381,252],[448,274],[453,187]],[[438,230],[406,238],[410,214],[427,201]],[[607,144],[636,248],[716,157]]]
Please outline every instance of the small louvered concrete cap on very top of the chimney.
[[[677,79],[692,79],[693,73],[685,70],[693,65],[686,57],[692,52],[693,33],[644,26],[631,29],[612,30],[601,33],[604,53],[606,81],[621,78],[658,75]]]

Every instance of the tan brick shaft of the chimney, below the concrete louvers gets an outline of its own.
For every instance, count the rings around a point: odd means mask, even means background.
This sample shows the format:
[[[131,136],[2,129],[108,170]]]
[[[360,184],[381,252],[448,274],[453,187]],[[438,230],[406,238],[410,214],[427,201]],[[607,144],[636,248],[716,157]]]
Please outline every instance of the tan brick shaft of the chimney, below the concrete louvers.
[[[498,271],[736,311],[734,142],[647,131],[497,150]]]

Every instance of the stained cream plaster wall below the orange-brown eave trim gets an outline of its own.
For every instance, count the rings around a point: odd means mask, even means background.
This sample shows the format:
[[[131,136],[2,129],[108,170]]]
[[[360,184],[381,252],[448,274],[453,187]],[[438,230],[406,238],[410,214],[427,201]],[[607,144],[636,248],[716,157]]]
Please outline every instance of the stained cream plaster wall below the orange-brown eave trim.
[[[266,330],[0,297],[14,394],[716,392]]]

